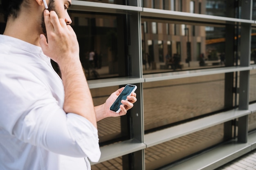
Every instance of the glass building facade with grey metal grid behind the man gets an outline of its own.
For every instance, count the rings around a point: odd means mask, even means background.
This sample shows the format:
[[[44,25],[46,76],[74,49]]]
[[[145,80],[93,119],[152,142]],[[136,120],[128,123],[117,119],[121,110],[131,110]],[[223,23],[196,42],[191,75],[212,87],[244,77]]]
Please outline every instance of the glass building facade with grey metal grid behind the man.
[[[72,0],[69,13],[94,105],[138,87],[126,116],[98,122],[92,170],[215,169],[256,148],[256,1]]]

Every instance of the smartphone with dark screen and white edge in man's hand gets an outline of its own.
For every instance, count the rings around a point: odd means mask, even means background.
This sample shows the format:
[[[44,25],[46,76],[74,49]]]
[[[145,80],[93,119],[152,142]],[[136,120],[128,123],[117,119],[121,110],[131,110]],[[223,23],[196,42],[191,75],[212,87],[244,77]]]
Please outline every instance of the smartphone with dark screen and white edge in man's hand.
[[[127,84],[124,87],[123,91],[119,94],[115,102],[112,104],[112,106],[110,106],[110,110],[113,112],[119,113],[121,111],[121,108],[120,108],[120,105],[122,104],[121,100],[128,100],[127,96],[130,95],[132,92],[135,92],[136,89],[137,89],[137,86],[132,84]]]

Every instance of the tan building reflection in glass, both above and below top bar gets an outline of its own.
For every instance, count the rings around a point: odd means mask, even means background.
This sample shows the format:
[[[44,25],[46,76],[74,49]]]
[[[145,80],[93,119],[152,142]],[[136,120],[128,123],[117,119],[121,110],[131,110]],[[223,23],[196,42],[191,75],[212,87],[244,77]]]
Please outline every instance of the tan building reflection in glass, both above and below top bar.
[[[191,1],[182,6],[182,1],[171,1],[166,5],[154,5],[155,1],[144,1],[144,6],[155,7],[157,9],[176,10],[181,9],[183,12],[201,13],[205,11],[202,8],[202,2]],[[165,1],[161,1],[165,2]],[[150,6],[151,5],[151,6]],[[165,5],[165,6],[164,6]],[[174,5],[174,7],[173,7]],[[168,7],[168,8],[167,8]],[[197,61],[201,53],[206,52],[205,39],[206,33],[205,26],[191,25],[185,21],[176,22],[175,20],[161,20],[155,22],[155,18],[142,18],[142,41],[143,48],[146,53],[154,56],[155,62],[165,62],[163,56],[170,53],[171,56],[177,54],[181,57],[182,62],[186,62],[189,58],[190,61]],[[145,41],[144,41],[145,38]],[[150,44],[148,44],[150,42]],[[152,43],[152,45],[151,45]],[[189,55],[189,56],[188,56]]]

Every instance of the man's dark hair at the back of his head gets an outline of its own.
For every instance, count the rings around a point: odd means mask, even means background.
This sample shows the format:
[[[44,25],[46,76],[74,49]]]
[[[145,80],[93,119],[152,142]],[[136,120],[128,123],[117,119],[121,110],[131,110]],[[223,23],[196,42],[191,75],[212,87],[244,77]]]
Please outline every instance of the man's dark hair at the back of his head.
[[[9,17],[13,17],[14,19],[18,17],[20,5],[23,1],[24,0],[2,0],[2,9],[5,21],[7,21]]]

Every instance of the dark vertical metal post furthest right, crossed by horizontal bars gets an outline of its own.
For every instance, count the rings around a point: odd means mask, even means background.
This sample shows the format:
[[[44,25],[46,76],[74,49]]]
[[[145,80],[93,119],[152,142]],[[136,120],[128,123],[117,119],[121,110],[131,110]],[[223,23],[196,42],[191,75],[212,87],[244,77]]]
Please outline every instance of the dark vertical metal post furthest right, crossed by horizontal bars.
[[[252,19],[252,0],[241,1],[241,18]],[[250,66],[251,24],[241,23],[241,56],[240,66]],[[239,109],[247,110],[249,106],[249,71],[240,71],[239,76]],[[238,141],[247,143],[248,115],[238,119]]]

